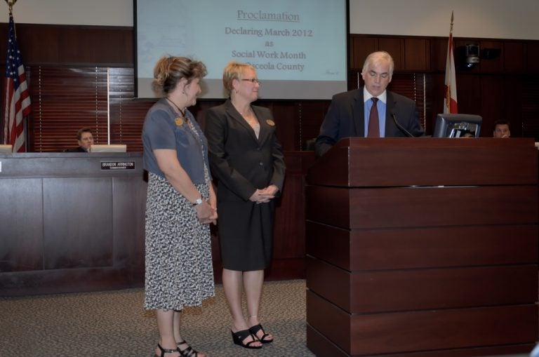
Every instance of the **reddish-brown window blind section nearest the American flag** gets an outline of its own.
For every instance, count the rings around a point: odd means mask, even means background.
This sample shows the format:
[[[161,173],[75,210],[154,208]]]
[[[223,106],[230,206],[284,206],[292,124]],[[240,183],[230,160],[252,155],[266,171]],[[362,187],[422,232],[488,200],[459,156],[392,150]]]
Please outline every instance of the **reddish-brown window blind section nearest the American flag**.
[[[106,144],[107,69],[28,67],[32,99],[29,151],[76,147],[80,128],[93,130],[95,144]]]

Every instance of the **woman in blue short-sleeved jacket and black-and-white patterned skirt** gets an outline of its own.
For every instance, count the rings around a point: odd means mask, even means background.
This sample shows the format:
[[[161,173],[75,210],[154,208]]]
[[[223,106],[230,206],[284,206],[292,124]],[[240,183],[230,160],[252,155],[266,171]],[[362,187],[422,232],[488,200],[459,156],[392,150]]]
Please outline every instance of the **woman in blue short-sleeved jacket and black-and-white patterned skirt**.
[[[161,357],[201,357],[180,335],[180,311],[214,295],[209,224],[217,220],[208,145],[187,107],[197,102],[202,62],[161,58],[153,89],[163,97],[142,129],[148,171],[145,309],[155,309]]]

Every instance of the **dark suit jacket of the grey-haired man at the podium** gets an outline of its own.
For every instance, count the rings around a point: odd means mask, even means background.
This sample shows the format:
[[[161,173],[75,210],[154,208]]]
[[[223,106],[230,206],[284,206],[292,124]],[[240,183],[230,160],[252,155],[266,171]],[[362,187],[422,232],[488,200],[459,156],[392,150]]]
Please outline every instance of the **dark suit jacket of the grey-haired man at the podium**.
[[[399,129],[392,118],[395,114],[397,121],[413,136],[424,135],[419,123],[415,102],[404,95],[387,90],[387,107],[385,112],[385,136],[407,136]],[[333,95],[324,122],[317,137],[315,151],[317,156],[326,151],[343,137],[365,136],[363,87],[348,92]]]

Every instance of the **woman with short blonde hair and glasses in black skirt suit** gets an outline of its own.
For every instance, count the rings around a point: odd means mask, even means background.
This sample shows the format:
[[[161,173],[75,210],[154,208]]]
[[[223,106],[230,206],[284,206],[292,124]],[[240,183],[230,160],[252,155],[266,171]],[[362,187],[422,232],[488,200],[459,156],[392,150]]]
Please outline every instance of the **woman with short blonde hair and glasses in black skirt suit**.
[[[222,81],[230,99],[206,113],[208,156],[218,180],[222,285],[234,343],[259,349],[273,341],[260,325],[258,308],[264,269],[272,261],[274,198],[284,182],[284,156],[272,113],[251,105],[260,89],[255,69],[229,62]]]

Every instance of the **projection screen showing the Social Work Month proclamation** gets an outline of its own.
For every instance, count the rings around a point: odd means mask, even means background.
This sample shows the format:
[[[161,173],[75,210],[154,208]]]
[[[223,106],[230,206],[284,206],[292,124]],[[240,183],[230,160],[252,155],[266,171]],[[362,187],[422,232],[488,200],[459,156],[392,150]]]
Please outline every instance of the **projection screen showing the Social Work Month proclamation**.
[[[201,98],[225,98],[222,69],[248,62],[261,99],[331,99],[347,90],[347,0],[133,0],[137,97],[155,97],[164,55],[204,62]]]

